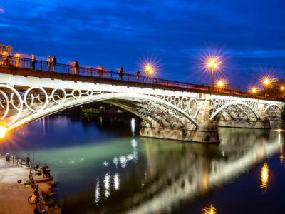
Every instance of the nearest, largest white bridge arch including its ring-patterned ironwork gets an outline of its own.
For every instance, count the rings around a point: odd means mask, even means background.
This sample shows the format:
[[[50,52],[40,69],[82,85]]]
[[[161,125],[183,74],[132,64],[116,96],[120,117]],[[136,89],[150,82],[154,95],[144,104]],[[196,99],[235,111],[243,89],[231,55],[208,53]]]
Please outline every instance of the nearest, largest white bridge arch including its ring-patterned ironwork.
[[[175,97],[158,97],[137,93],[112,93],[63,88],[12,87],[0,85],[1,119],[16,129],[66,108],[93,101],[104,101],[124,108],[150,124],[171,128],[199,128],[194,118],[175,105]],[[172,101],[173,100],[173,101]],[[179,98],[177,98],[179,100]],[[9,105],[7,105],[9,103]],[[187,105],[187,101],[185,103]]]

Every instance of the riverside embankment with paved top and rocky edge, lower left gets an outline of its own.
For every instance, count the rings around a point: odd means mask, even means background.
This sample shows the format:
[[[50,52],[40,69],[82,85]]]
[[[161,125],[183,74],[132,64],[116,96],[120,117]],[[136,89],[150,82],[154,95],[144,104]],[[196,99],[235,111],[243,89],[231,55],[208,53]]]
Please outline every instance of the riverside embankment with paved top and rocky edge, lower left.
[[[36,204],[28,203],[28,198],[37,188],[41,210],[48,214],[60,214],[61,209],[55,201],[48,201],[56,195],[53,193],[56,182],[53,178],[42,178],[38,173],[35,175],[25,162],[16,156],[6,158],[0,154],[0,214],[33,213]]]

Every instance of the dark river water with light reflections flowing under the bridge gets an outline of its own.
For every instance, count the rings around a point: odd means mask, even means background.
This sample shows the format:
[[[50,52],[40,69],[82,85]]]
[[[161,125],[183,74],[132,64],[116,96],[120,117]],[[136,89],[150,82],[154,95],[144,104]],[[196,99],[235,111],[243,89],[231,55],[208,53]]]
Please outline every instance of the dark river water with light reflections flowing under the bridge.
[[[209,145],[141,138],[139,118],[58,113],[11,133],[0,152],[34,151],[68,214],[284,213],[285,126],[271,128],[219,128]]]

